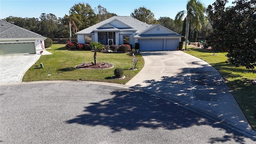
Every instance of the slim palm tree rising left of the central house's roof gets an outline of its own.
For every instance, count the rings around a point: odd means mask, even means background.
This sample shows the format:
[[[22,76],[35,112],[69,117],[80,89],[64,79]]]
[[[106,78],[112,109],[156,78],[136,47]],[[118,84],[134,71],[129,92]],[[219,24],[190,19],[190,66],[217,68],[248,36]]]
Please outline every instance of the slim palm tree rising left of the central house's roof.
[[[69,37],[70,37],[70,42],[72,42],[72,35],[71,35],[71,27],[73,28],[74,32],[78,32],[78,28],[76,26],[76,22],[81,23],[79,20],[79,15],[78,14],[70,14],[69,16],[65,14],[66,18],[66,23],[68,25],[68,32],[69,32]]]

